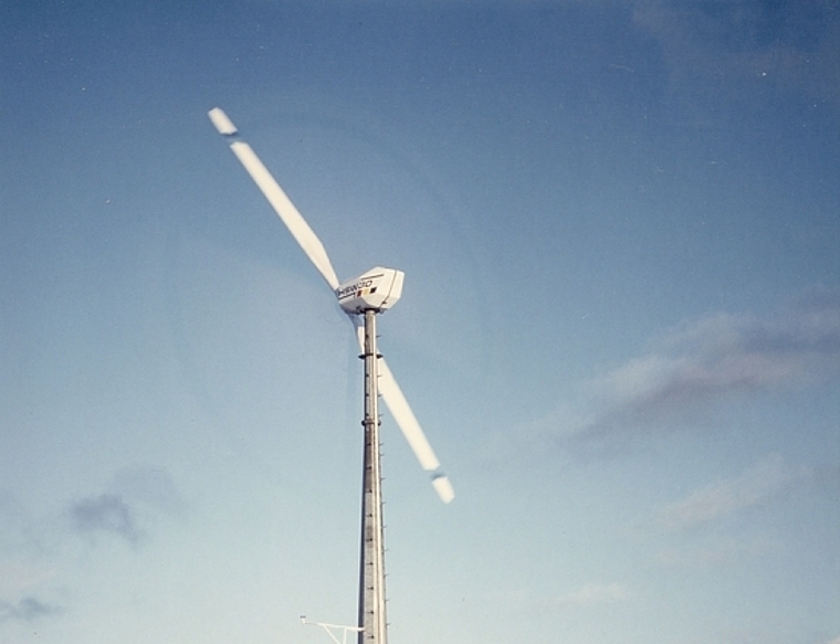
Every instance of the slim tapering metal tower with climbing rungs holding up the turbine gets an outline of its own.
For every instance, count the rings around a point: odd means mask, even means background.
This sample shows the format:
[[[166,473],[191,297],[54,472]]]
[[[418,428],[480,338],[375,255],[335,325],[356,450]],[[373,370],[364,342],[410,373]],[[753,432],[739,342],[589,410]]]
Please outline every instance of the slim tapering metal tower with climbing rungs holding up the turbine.
[[[359,561],[358,644],[387,644],[385,611],[385,535],[382,472],[379,451],[379,353],[376,348],[375,308],[366,308],[365,344],[365,455],[361,488],[361,553]]]

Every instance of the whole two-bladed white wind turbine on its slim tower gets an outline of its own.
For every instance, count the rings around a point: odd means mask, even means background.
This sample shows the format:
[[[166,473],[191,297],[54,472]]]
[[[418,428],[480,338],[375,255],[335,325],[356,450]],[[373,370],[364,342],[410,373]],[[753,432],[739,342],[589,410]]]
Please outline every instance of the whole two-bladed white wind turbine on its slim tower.
[[[432,485],[443,503],[455,493],[440,471],[440,462],[406,401],[385,359],[377,351],[376,316],[396,304],[402,294],[403,273],[377,266],[344,283],[333,270],[324,245],[303,215],[283,192],[256,154],[239,137],[228,115],[214,107],[210,120],[230,144],[230,149],[262,190],[265,199],[286,224],[306,256],[338,299],[338,305],[353,321],[365,360],[365,451],[361,487],[361,546],[359,561],[358,644],[386,644],[385,613],[385,541],[382,530],[382,477],[379,451],[379,395],[402,430],[420,466],[431,473]]]

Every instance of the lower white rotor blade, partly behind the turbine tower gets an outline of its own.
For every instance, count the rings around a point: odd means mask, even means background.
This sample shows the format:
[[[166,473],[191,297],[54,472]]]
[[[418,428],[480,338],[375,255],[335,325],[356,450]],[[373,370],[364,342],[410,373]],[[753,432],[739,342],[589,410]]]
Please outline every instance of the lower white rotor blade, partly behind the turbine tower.
[[[361,350],[365,350],[365,329],[359,319],[353,316],[353,324],[356,327],[356,338],[359,341]],[[432,476],[432,485],[438,496],[443,503],[450,503],[455,498],[455,490],[452,488],[449,477],[442,472],[438,472],[440,467],[440,461],[434,455],[434,450],[429,444],[429,440],[426,437],[420,423],[417,421],[414,412],[402,394],[400,386],[397,384],[397,380],[393,378],[388,363],[385,358],[379,358],[379,394],[382,397],[385,404],[393,416],[397,426],[402,431],[402,435],[406,436],[406,441],[414,452],[414,456],[420,462],[420,466],[427,472],[435,472]]]

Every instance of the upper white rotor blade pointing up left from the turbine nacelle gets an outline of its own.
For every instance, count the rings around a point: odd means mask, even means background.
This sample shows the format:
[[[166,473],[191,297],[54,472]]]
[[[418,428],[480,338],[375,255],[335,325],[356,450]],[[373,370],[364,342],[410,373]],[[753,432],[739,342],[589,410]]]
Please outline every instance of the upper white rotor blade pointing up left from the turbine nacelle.
[[[213,107],[208,116],[220,135],[233,137],[238,134],[237,126],[220,107]],[[306,256],[309,257],[329,287],[333,291],[338,288],[338,277],[336,277],[333,264],[330,264],[327,252],[324,250],[324,244],[321,243],[309,224],[306,223],[295,204],[283,192],[283,189],[251,149],[251,146],[242,140],[233,140],[230,144],[230,149],[237,155],[248,173],[251,175],[256,187],[262,190],[265,199],[269,200],[280,219],[286,224],[288,232],[292,233],[292,236],[301,245],[303,252],[306,253]]]

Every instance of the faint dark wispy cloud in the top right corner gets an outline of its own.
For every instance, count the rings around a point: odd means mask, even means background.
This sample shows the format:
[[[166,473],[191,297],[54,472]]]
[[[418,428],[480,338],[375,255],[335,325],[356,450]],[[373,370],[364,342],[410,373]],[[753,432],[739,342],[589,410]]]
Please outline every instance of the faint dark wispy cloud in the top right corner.
[[[829,3],[636,0],[636,23],[660,43],[671,89],[696,117],[733,97],[792,89],[840,103],[840,17]],[[802,33],[811,35],[804,45]],[[691,81],[691,82],[689,82]],[[700,89],[699,89],[700,87]],[[715,97],[717,101],[704,101]],[[692,101],[693,99],[693,101]],[[700,112],[714,109],[710,115]],[[703,117],[706,118],[703,118]]]

